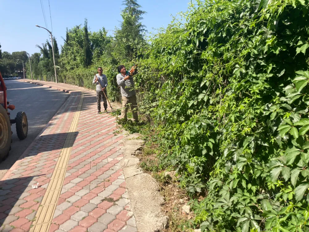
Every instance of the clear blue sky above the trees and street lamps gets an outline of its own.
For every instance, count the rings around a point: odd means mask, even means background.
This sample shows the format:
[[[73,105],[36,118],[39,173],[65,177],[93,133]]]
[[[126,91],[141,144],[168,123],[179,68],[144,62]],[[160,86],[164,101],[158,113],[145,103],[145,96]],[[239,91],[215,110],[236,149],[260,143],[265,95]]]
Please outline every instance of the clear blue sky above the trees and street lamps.
[[[51,30],[48,0],[42,0],[49,30]],[[63,45],[66,28],[83,24],[88,19],[91,31],[105,27],[113,33],[121,21],[122,0],[49,0],[53,23],[53,36],[59,48]],[[147,11],[142,23],[148,32],[171,22],[172,16],[188,9],[190,0],[138,0],[142,10]],[[37,28],[45,27],[40,0],[0,0],[0,44],[2,51],[10,53],[26,50],[33,54],[39,52],[36,44],[41,45],[48,38],[48,32]]]

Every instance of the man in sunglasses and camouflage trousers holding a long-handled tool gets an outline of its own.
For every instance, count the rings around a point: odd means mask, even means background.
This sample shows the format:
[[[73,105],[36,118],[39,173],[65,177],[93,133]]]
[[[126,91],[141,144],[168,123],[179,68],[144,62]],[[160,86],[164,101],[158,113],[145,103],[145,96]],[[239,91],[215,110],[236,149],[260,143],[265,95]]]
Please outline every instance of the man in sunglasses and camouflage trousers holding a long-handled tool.
[[[93,78],[92,83],[96,84],[96,92],[97,92],[97,105],[98,105],[98,114],[101,113],[101,97],[103,98],[104,112],[107,112],[107,77],[102,74],[102,67],[98,67],[98,73]],[[105,95],[104,95],[105,93]],[[105,97],[106,96],[106,97]]]

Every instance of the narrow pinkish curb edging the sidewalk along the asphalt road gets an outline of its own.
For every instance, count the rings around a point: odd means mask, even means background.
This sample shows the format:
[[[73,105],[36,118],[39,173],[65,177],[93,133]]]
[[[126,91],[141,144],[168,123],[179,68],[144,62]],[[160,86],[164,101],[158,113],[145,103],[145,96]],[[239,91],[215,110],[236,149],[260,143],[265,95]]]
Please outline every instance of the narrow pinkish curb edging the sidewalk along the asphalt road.
[[[30,81],[24,81],[24,82],[28,82],[28,83],[31,83]],[[31,83],[31,84],[34,84],[34,83]],[[42,84],[40,84],[42,85]],[[46,86],[46,85],[42,85],[42,86]],[[52,88],[52,87],[49,87],[49,88]],[[63,92],[66,92],[64,90],[60,90],[60,91],[63,91]],[[72,91],[68,91],[68,93],[70,94],[70,96],[66,99],[66,101],[63,103],[66,104],[66,102],[69,100],[70,97],[73,97],[73,96],[76,96],[76,95],[79,95],[81,94],[80,91],[76,92],[74,90]],[[75,94],[71,94],[71,93],[75,93]],[[61,108],[61,106],[60,106]],[[29,150],[32,148],[32,146],[36,143],[36,140],[43,134],[43,132],[46,130],[47,127],[49,127],[50,125],[50,122],[53,120],[53,118],[58,114],[60,108],[57,110],[56,114],[54,114],[54,116],[49,120],[49,122],[46,124],[46,126],[42,129],[42,131],[36,136],[36,138],[32,141],[32,143],[28,146],[28,148],[23,152],[23,154],[18,158],[18,160],[10,167],[10,169],[6,172],[6,174],[4,174],[4,176],[2,177],[2,179],[0,181],[4,181],[8,178],[8,176],[12,173],[12,170],[15,170],[15,167],[18,166],[18,164],[21,162],[21,160],[26,157],[27,153],[29,152]]]

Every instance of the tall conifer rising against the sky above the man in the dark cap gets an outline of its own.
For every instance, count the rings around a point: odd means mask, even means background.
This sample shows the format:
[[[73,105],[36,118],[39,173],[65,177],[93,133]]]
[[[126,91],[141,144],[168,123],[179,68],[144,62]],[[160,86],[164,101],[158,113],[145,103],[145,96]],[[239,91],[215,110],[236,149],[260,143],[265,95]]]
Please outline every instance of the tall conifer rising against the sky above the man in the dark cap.
[[[134,53],[146,45],[144,33],[145,26],[142,25],[142,15],[146,11],[140,10],[141,6],[135,0],[123,1],[125,9],[121,12],[123,21],[120,28],[115,31],[115,52],[114,55],[119,60],[132,60]]]

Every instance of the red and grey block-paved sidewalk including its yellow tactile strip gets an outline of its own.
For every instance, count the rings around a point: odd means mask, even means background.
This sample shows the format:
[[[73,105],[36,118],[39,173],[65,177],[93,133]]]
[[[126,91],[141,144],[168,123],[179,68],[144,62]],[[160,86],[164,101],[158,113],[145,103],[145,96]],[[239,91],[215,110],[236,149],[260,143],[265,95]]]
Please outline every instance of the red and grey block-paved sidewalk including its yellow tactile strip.
[[[115,118],[96,114],[94,92],[70,92],[0,181],[0,232],[137,231]]]

